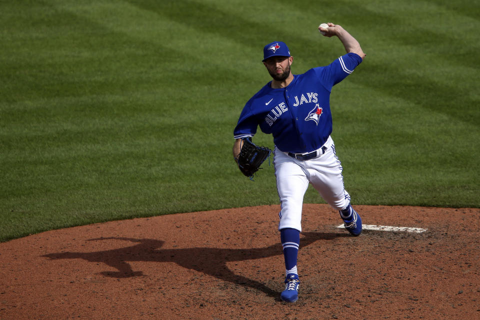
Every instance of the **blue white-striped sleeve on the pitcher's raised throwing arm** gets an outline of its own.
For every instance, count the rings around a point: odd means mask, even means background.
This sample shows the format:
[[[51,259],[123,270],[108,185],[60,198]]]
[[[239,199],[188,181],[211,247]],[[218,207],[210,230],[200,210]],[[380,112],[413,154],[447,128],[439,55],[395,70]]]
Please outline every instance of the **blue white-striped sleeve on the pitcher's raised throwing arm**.
[[[317,76],[328,91],[333,85],[343,80],[360,64],[361,57],[353,52],[346,53],[326,66],[314,68]]]

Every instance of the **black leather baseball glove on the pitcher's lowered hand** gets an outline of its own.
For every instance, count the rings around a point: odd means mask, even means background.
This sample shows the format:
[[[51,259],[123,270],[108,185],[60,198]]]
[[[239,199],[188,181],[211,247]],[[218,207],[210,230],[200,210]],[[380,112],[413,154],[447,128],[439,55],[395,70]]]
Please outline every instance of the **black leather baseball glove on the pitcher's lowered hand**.
[[[270,156],[271,150],[266,146],[258,146],[251,142],[250,138],[243,138],[243,145],[241,146],[238,158],[235,158],[238,163],[238,168],[241,173],[248,176],[250,180],[253,178],[253,173],[258,171],[260,165],[265,161],[267,156]]]

